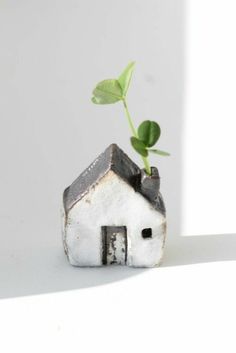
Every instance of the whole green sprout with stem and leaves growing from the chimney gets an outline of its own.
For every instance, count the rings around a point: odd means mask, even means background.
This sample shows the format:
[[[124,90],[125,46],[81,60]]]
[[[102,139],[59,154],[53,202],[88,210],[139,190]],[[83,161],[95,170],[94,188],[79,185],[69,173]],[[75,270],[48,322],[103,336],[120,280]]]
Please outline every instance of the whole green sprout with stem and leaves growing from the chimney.
[[[93,90],[92,102],[95,104],[113,104],[123,102],[126,117],[132,132],[130,138],[131,145],[138,152],[145,166],[145,171],[151,175],[150,163],[148,160],[149,152],[160,156],[169,156],[169,153],[152,147],[157,143],[161,135],[161,128],[155,121],[143,121],[136,131],[133,120],[127,105],[127,92],[134,70],[134,62],[128,64],[118,79],[103,80],[97,84]]]

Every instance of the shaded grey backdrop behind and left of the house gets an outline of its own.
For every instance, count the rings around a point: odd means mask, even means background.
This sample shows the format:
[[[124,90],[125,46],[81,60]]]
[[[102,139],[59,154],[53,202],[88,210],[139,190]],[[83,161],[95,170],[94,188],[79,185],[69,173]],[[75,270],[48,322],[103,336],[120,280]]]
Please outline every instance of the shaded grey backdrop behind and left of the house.
[[[1,2],[2,296],[124,276],[115,270],[98,280],[101,274],[84,270],[78,277],[67,266],[59,208],[63,189],[110,143],[141,163],[122,105],[90,102],[94,85],[131,60],[135,123],[159,121],[159,147],[171,152],[152,159],[162,177],[171,249],[181,229],[184,13],[181,0]]]

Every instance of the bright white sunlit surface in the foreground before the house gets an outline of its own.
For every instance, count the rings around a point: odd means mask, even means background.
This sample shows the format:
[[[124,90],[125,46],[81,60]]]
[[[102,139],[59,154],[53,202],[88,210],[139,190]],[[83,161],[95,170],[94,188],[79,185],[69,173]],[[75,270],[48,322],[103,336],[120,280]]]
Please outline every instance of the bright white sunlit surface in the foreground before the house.
[[[235,353],[235,270],[235,262],[150,269],[96,289],[3,300],[1,347]]]

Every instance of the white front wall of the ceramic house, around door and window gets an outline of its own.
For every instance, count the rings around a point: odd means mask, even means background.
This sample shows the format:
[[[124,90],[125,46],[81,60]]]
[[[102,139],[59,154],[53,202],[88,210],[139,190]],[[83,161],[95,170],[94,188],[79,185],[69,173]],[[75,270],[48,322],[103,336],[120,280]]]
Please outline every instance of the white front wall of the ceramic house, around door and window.
[[[126,226],[129,266],[154,266],[162,257],[165,217],[110,171],[68,214],[68,257],[75,266],[102,265],[101,226]],[[152,238],[143,239],[143,228]]]

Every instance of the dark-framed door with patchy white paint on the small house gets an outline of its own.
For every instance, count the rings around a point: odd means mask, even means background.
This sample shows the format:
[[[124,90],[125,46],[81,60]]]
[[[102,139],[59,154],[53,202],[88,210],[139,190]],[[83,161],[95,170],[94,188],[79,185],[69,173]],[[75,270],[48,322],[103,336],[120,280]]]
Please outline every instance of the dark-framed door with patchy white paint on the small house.
[[[125,226],[103,226],[103,265],[125,265],[127,261],[127,230]]]

